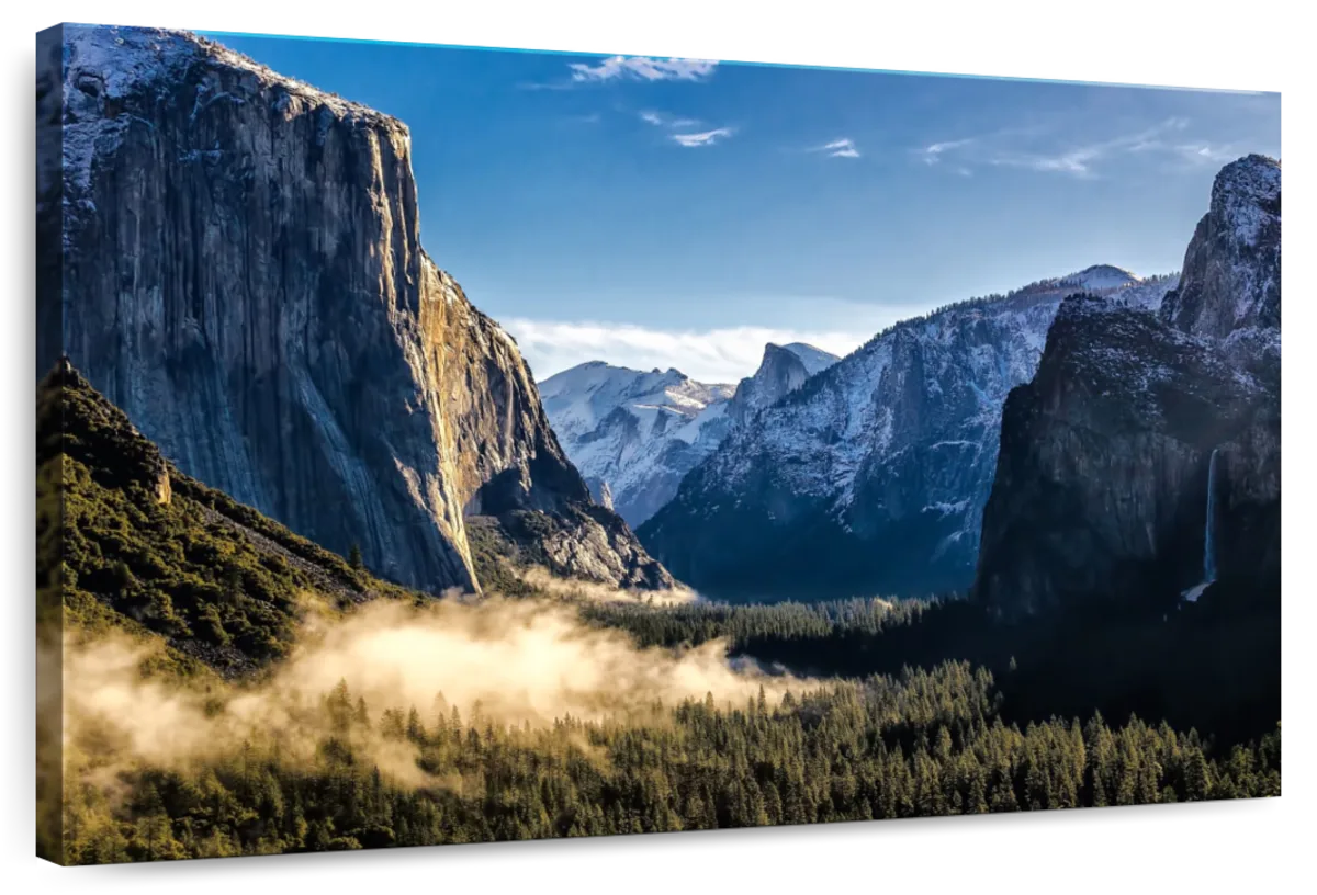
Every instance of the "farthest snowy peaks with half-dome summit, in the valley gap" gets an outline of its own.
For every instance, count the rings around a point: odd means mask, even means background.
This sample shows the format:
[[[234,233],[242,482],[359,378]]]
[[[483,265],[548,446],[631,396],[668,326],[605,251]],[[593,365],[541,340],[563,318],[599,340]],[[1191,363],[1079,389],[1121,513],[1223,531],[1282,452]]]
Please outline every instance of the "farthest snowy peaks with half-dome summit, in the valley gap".
[[[595,500],[640,525],[734,426],[836,359],[810,345],[769,345],[755,375],[735,387],[699,383],[677,370],[641,372],[594,361],[549,376],[540,392]]]

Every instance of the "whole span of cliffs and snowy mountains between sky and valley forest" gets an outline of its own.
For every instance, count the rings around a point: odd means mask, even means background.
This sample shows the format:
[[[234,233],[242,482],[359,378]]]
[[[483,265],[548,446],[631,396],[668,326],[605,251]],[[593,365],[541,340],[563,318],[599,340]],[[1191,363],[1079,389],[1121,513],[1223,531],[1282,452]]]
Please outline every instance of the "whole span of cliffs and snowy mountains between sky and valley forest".
[[[184,32],[49,57],[38,371],[67,353],[180,474],[382,578],[479,591],[487,536],[618,587],[1004,615],[1279,576],[1279,162],[1222,170],[1183,278],[1100,265],[735,386],[536,386],[421,249],[402,122]]]

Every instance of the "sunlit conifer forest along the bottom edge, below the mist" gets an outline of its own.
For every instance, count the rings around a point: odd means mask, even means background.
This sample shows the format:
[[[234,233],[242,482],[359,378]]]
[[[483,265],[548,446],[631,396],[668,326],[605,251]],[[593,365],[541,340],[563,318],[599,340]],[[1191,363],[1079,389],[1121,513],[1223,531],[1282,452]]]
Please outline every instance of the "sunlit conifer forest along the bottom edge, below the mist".
[[[134,774],[119,809],[75,792],[68,856],[150,861],[1280,794],[1279,725],[1220,757],[1193,732],[1138,719],[1021,729],[997,715],[992,677],[963,662],[777,707],[687,702],[639,724],[477,728],[456,712],[421,723],[415,709],[389,709],[386,736],[410,741],[432,780],[420,787],[369,761],[354,702],[363,707],[345,684],[325,702],[338,733],[313,766],[253,744],[198,771]]]

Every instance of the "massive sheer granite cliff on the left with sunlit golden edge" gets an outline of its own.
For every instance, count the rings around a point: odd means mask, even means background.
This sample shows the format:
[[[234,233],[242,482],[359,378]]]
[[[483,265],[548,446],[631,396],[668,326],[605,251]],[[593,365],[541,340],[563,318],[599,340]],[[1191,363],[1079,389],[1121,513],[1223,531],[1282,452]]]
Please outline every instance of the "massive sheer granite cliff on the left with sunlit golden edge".
[[[668,580],[582,516],[515,342],[421,250],[402,122],[191,34],[63,53],[63,341],[166,455],[415,587],[478,588],[464,516],[516,509]]]

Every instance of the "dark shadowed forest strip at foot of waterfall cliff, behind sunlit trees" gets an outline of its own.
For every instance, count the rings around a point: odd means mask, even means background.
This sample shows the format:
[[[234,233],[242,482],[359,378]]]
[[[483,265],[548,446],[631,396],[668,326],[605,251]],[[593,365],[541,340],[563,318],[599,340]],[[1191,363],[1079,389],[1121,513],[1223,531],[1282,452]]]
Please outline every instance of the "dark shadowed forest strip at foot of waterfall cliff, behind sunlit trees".
[[[965,659],[993,670],[1008,720],[1100,709],[1167,719],[1220,741],[1256,737],[1281,716],[1279,600],[1214,588],[1166,616],[1042,616],[997,624],[967,600],[591,605],[595,624],[645,646],[727,637],[732,653],[811,677],[896,674]]]

